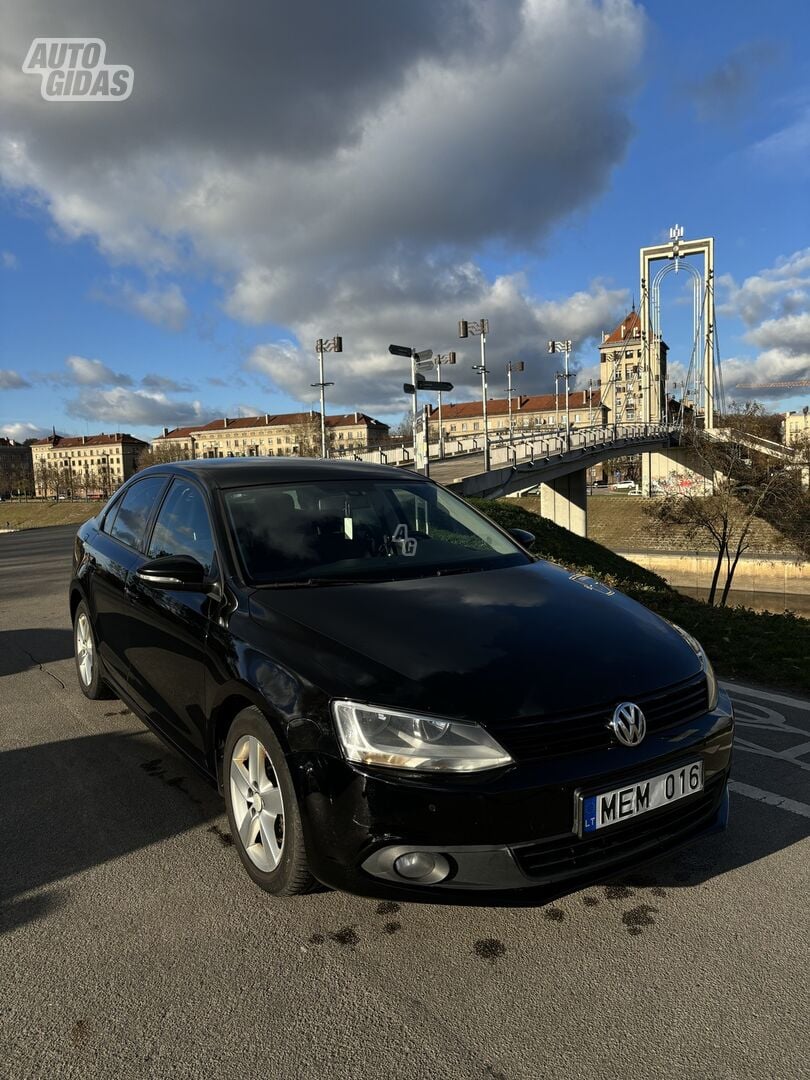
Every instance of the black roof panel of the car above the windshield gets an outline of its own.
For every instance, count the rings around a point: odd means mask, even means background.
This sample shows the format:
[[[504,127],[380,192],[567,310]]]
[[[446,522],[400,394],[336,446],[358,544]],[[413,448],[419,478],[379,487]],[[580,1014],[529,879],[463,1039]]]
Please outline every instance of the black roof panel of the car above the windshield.
[[[367,461],[324,461],[321,458],[202,458],[151,465],[138,473],[191,475],[211,488],[241,484],[284,484],[318,480],[424,480],[408,469],[378,465]]]

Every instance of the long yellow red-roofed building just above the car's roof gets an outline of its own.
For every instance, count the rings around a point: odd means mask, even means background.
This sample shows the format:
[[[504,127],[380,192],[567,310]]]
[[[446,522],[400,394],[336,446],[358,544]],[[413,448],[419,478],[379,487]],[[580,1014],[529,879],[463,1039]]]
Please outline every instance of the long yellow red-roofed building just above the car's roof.
[[[378,446],[388,436],[388,424],[365,413],[327,416],[329,445],[360,449]],[[152,449],[164,448],[180,459],[311,457],[321,451],[321,414],[266,413],[264,416],[222,417],[191,428],[163,429]]]

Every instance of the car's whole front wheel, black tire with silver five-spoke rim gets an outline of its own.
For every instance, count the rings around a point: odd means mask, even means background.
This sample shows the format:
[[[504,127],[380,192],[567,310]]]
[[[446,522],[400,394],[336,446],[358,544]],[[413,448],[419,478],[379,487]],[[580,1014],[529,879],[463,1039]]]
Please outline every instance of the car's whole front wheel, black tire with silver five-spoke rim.
[[[256,885],[274,896],[309,892],[314,879],[286,757],[258,708],[245,708],[225,741],[222,787],[231,836]]]

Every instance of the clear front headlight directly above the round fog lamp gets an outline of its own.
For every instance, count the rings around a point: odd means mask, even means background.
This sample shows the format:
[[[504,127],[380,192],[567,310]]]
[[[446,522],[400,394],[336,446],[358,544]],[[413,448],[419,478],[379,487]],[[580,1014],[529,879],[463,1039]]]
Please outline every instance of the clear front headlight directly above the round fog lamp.
[[[480,725],[333,701],[338,738],[350,761],[430,772],[481,772],[512,758]]]

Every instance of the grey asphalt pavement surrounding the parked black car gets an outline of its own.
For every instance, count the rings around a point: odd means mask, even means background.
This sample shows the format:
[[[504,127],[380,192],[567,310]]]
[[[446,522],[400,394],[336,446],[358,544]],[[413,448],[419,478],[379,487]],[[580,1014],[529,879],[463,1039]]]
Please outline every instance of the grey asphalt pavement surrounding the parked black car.
[[[729,829],[550,906],[276,900],[80,693],[72,535],[0,536],[0,1076],[810,1077],[810,703],[732,688]]]

